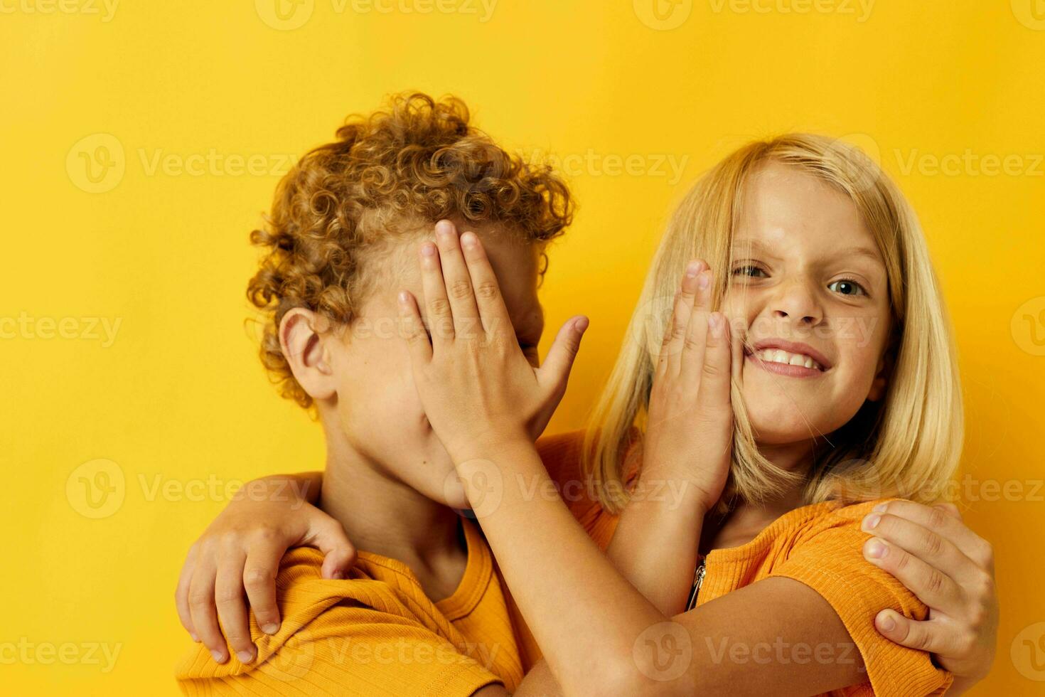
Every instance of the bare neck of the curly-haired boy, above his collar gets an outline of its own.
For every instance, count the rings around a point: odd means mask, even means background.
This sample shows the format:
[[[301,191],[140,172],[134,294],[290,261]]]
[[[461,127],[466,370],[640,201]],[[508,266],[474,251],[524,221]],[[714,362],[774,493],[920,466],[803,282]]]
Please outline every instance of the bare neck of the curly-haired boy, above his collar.
[[[332,424],[325,424],[332,425]],[[327,463],[319,507],[344,526],[356,549],[423,573],[462,553],[457,512],[365,457],[340,428],[325,428]]]

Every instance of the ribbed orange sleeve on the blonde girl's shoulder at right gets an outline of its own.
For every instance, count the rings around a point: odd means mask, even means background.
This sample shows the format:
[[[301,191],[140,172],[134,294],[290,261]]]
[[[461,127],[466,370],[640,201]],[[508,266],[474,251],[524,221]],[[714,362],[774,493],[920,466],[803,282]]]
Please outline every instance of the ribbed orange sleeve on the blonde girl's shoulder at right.
[[[791,578],[818,593],[838,613],[863,657],[877,695],[942,695],[952,676],[930,654],[893,644],[875,628],[885,608],[924,620],[928,608],[890,574],[863,558],[870,537],[860,522],[876,502],[839,509],[805,531],[770,576]]]

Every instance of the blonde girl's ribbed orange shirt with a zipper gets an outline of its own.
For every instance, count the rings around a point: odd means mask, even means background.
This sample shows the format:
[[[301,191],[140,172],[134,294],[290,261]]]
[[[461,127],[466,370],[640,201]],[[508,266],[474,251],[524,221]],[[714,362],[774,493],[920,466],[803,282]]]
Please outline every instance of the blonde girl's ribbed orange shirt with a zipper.
[[[582,434],[571,433],[542,439],[538,446],[574,516],[606,549],[618,518],[606,513],[583,485],[581,441]],[[638,458],[626,458],[626,482],[630,483]],[[935,668],[925,651],[893,644],[875,629],[875,615],[886,607],[914,620],[928,614],[928,608],[902,583],[863,558],[863,543],[870,535],[860,530],[860,524],[878,503],[805,506],[781,516],[746,544],[714,550],[704,561],[697,605],[771,576],[795,579],[834,608],[867,669],[867,682],[831,695],[943,694],[951,684],[950,673]]]

